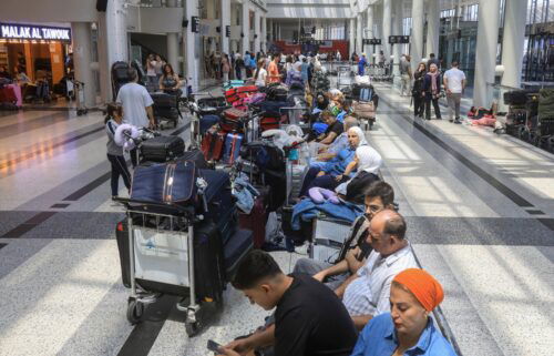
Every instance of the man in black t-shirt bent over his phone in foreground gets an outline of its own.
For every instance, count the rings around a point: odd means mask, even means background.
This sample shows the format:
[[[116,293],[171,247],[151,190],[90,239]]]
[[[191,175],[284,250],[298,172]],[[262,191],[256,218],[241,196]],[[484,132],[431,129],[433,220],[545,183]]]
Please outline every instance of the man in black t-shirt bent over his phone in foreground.
[[[270,345],[276,356],[350,355],[357,339],[352,319],[335,293],[311,276],[287,276],[269,254],[256,250],[238,266],[233,286],[266,311],[277,307],[275,324],[222,347],[223,355]]]

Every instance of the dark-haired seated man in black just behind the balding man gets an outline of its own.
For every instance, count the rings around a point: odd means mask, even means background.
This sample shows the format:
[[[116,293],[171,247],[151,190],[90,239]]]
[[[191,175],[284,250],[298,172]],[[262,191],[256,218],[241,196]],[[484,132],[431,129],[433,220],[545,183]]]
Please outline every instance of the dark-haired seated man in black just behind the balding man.
[[[386,182],[375,182],[366,191],[365,203],[366,218],[371,222],[377,213],[386,208],[394,208],[394,191]],[[366,264],[366,256],[370,252],[368,250],[371,250],[370,244],[357,246],[347,253],[345,260],[335,265],[312,258],[300,258],[296,262],[294,273],[314,275],[314,278],[325,282],[329,288],[335,291]]]

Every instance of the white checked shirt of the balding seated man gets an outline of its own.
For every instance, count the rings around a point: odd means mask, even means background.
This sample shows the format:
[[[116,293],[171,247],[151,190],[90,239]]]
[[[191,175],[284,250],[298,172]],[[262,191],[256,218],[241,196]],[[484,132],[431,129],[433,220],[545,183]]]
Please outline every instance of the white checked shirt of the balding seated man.
[[[386,258],[372,251],[366,265],[358,269],[358,278],[348,285],[342,296],[348,313],[357,316],[390,312],[392,278],[407,268],[418,268],[410,244]]]

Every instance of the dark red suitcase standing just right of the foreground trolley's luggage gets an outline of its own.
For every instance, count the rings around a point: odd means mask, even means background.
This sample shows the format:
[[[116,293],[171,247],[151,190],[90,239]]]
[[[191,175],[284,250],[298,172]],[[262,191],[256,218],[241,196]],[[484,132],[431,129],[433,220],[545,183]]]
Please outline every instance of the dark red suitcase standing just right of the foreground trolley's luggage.
[[[254,236],[254,248],[261,248],[266,241],[267,207],[269,204],[270,187],[256,187],[260,195],[254,201],[250,214],[239,211],[238,225],[240,228],[252,230]]]

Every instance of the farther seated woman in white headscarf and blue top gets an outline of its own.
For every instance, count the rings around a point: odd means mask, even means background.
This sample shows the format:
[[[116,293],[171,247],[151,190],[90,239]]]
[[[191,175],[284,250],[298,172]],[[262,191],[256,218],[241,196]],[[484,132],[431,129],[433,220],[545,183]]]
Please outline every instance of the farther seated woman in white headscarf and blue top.
[[[315,186],[334,190],[340,183],[350,179],[349,175],[343,174],[345,170],[352,162],[356,150],[359,146],[367,145],[368,142],[366,141],[363,131],[358,126],[353,126],[348,130],[348,148],[341,150],[334,159],[326,162],[326,164],[322,166],[312,166],[308,170],[300,190],[300,196],[306,196],[308,191]]]

